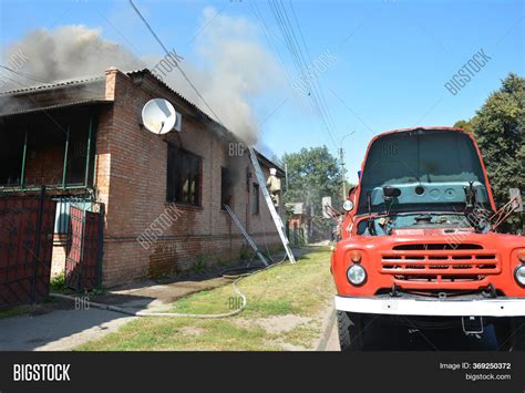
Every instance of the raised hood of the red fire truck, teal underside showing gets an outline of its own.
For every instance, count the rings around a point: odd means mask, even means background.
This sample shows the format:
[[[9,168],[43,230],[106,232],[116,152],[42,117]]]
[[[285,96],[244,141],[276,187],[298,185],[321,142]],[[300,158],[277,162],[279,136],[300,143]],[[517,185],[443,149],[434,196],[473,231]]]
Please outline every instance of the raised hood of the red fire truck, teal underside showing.
[[[385,186],[400,195],[385,198]],[[387,134],[368,153],[357,213],[459,211],[469,187],[478,207],[490,209],[481,161],[467,135],[449,130]]]

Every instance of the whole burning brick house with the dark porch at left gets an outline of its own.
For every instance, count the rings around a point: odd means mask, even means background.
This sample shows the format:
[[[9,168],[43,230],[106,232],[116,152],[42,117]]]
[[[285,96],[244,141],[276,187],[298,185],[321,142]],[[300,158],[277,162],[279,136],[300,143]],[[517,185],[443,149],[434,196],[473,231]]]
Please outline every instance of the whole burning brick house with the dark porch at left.
[[[142,108],[157,97],[182,114],[181,132],[144,128]],[[238,154],[243,145],[228,130],[147,69],[109,69],[105,75],[0,94],[0,195],[31,195],[47,186],[58,200],[59,267],[71,241],[70,206],[103,206],[105,287],[184,271],[197,260],[209,266],[238,258],[247,242],[225,203],[261,249],[278,247],[244,152]],[[257,155],[266,177],[270,167],[284,176]]]

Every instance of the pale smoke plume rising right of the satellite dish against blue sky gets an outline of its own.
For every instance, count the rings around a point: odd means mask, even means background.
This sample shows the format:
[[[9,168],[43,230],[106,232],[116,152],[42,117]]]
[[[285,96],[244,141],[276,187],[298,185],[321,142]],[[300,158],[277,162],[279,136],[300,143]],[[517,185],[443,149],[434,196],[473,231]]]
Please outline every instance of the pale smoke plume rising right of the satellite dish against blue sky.
[[[259,43],[255,25],[245,18],[206,8],[197,34],[192,43],[195,61],[184,60],[182,68],[219,121],[246,142],[255,143],[258,126],[250,101],[272,91],[281,81],[275,59]],[[197,63],[200,66],[194,65]],[[168,73],[165,80],[215,117],[178,71]]]

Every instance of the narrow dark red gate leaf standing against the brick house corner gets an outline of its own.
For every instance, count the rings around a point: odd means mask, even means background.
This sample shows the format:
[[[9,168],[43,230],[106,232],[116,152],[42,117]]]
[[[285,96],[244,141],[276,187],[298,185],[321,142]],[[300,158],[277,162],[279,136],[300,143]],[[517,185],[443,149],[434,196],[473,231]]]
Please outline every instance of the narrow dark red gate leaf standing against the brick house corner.
[[[71,205],[70,238],[65,252],[65,285],[91,290],[101,285],[103,205],[99,211]]]

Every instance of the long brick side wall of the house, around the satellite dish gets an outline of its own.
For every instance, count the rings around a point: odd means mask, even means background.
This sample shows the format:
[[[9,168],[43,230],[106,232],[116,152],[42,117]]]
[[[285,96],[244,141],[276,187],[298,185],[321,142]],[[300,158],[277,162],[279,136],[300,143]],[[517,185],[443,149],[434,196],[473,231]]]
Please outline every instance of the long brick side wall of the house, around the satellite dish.
[[[228,142],[210,130],[209,121],[197,117],[169,90],[150,75],[140,84],[116,70],[106,73],[106,96],[114,97],[111,110],[99,118],[95,187],[106,205],[103,282],[111,287],[146,276],[189,269],[195,261],[206,265],[238,258],[246,241],[228,214],[220,209],[220,167],[235,165],[231,208],[261,248],[275,248],[279,237],[265,199],[260,196],[259,215],[251,214],[253,187],[257,182],[246,154],[228,156]],[[169,100],[183,113],[183,130],[159,136],[144,130],[141,111],[154,97]],[[199,207],[166,203],[167,143],[183,147],[202,159],[202,203]],[[246,170],[253,173],[249,190]],[[264,167],[265,176],[269,175]],[[172,211],[153,242],[137,237],[163,213]],[[174,213],[176,211],[176,214]],[[282,211],[282,208],[281,208]],[[265,236],[266,235],[266,236]]]

